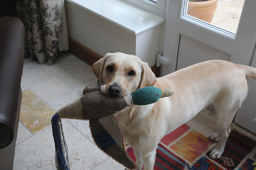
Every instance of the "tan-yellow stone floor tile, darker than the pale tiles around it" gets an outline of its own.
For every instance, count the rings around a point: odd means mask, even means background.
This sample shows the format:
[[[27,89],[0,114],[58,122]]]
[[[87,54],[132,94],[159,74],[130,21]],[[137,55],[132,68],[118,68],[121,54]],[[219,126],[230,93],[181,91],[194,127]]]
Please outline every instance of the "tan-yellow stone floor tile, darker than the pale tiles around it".
[[[51,124],[55,111],[29,89],[22,92],[20,121],[35,133]]]

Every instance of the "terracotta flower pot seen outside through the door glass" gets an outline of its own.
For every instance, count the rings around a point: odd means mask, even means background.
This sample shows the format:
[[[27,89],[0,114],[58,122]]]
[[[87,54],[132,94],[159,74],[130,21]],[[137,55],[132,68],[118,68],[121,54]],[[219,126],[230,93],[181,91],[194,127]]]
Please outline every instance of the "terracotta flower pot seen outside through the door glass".
[[[214,13],[216,11],[218,1],[219,0],[189,2],[187,14],[200,20],[211,23]]]

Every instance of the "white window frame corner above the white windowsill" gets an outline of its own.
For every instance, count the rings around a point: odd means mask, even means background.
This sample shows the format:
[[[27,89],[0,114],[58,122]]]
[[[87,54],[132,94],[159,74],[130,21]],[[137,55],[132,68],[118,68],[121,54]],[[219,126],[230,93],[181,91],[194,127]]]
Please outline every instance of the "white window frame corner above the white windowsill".
[[[156,3],[152,3],[149,0],[122,0],[137,6],[141,9],[149,11],[159,17],[164,17],[165,1],[167,0],[157,0]]]

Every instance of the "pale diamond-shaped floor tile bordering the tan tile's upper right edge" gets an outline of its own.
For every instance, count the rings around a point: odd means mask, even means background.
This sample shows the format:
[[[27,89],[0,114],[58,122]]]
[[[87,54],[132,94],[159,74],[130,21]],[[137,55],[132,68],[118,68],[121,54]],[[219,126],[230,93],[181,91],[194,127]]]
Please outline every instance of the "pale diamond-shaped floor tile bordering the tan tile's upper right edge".
[[[52,77],[42,83],[38,83],[30,89],[40,96],[45,102],[48,102],[71,90],[66,84],[56,77]]]

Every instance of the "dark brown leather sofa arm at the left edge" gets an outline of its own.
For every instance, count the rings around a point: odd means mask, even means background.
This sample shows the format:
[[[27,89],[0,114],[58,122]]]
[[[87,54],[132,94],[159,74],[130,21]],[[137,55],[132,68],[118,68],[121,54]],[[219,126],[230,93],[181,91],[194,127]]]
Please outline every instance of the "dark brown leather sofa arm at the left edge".
[[[17,133],[24,32],[20,20],[13,17],[0,18],[0,149],[12,143]]]

